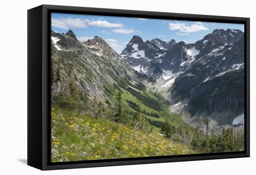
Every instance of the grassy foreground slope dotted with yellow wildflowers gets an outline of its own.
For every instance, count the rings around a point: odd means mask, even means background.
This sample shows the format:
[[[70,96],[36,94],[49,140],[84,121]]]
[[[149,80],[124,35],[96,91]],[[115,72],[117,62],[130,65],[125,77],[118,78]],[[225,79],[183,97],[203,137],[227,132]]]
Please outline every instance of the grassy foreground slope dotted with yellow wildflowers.
[[[157,132],[144,133],[109,119],[90,118],[54,107],[51,161],[81,161],[196,153]]]

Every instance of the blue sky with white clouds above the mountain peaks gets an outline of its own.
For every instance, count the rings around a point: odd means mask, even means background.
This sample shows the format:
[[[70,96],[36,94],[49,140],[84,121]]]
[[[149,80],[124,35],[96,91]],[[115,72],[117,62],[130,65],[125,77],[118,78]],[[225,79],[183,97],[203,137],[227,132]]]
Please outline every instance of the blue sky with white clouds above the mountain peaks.
[[[244,25],[52,13],[53,31],[66,33],[69,29],[80,41],[87,41],[97,35],[121,53],[134,35],[140,36],[144,42],[159,38],[195,43],[215,29],[244,31]]]

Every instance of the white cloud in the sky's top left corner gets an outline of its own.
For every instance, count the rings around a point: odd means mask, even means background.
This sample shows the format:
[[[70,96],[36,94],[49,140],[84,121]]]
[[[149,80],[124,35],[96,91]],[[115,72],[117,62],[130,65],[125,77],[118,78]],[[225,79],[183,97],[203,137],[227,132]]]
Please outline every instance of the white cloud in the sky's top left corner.
[[[52,26],[60,29],[87,28],[89,19],[79,18],[52,18]]]

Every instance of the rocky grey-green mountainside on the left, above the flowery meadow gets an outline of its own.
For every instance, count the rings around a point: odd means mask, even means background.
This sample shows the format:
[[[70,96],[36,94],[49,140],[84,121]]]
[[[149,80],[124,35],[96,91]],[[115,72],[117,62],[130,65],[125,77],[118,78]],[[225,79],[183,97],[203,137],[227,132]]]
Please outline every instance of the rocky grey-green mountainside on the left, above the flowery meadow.
[[[60,99],[61,92],[65,92],[64,96],[71,94],[68,84],[74,82],[80,92],[85,92],[91,100],[96,97],[108,107],[115,106],[117,92],[121,90],[126,113],[134,115],[140,107],[143,116],[158,128],[166,118],[173,117],[168,101],[146,91],[147,79],[131,69],[102,38],[95,36],[80,42],[72,31],[66,34],[52,31],[51,35],[53,103]],[[179,115],[175,116],[172,125],[192,129]]]

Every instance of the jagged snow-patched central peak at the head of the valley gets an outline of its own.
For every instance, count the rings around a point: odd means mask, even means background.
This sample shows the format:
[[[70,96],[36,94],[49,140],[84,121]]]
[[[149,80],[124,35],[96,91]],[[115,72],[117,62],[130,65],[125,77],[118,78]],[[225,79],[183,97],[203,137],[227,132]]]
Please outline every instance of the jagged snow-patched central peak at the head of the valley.
[[[133,69],[156,79],[180,73],[194,61],[197,52],[195,44],[176,43],[175,40],[165,42],[158,38],[143,42],[134,36],[121,56]]]

